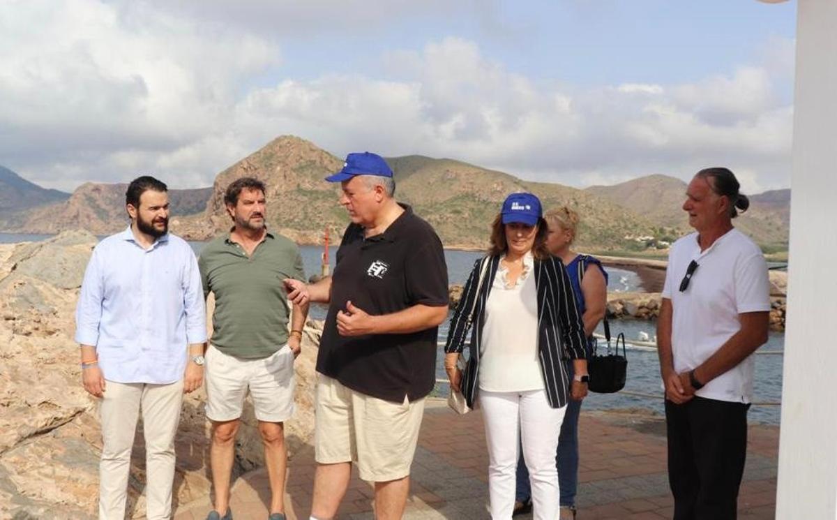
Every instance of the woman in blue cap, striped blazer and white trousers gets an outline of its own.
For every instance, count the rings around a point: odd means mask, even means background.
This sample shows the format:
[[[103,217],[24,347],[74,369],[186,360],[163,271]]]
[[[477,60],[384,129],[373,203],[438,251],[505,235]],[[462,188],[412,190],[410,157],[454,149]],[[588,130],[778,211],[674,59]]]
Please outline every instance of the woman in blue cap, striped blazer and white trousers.
[[[471,324],[463,373],[455,363]],[[492,226],[488,255],[475,263],[465,283],[444,348],[451,386],[461,389],[470,406],[479,394],[495,520],[511,518],[520,445],[534,518],[558,517],[558,433],[567,402],[581,397],[572,395],[564,360],[573,360],[575,373],[587,373],[584,343],[567,271],[547,250],[541,201],[531,193],[512,193]]]

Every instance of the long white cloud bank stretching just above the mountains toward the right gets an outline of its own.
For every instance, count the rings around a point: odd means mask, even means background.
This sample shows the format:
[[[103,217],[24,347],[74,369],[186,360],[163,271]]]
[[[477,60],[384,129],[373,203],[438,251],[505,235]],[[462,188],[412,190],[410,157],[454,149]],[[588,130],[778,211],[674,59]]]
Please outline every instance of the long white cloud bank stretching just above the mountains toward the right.
[[[511,73],[456,38],[384,63],[402,80],[280,84],[250,95],[239,121],[315,136],[338,154],[459,157],[574,185],[652,172],[689,178],[714,164],[757,171],[765,188],[787,184],[791,109],[757,67],[694,85],[578,92]]]

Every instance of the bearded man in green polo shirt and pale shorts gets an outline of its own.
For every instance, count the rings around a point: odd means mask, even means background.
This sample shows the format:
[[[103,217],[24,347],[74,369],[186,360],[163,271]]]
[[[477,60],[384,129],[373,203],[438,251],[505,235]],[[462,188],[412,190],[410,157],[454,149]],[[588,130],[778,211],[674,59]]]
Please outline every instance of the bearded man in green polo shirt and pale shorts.
[[[244,397],[249,391],[270,476],[269,520],[285,520],[284,421],[294,412],[294,359],[300,353],[307,303],[290,306],[283,280],[305,280],[296,245],[264,224],[264,183],[239,178],[224,194],[233,229],[210,242],[198,266],[203,293],[215,295],[206,355],[209,452],[215,490],[207,520],[232,520],[229,481]]]

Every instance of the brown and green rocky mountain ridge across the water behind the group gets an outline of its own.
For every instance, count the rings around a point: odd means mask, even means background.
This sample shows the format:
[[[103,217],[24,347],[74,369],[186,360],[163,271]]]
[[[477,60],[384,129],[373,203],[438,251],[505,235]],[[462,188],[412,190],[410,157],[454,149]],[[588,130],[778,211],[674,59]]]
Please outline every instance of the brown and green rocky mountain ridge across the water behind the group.
[[[503,198],[531,191],[545,209],[567,204],[579,211],[578,246],[593,250],[641,250],[634,237],[675,238],[688,228],[680,209],[686,183],[665,175],[636,178],[614,186],[572,188],[526,181],[450,158],[422,155],[387,157],[396,179],[396,198],[409,203],[434,225],[449,248],[482,249]],[[339,186],[324,178],[342,167],[342,159],[298,136],[278,136],[249,156],[224,168],[212,188],[171,190],[172,232],[187,239],[208,239],[229,229],[223,191],[235,178],[253,176],[267,185],[271,229],[300,244],[318,244],[324,229],[339,237],[348,218],[338,199]],[[80,227],[108,234],[125,226],[124,184],[86,183],[61,203],[29,211],[13,230],[56,233]],[[752,197],[751,211],[737,219],[763,245],[787,244],[783,208],[788,193],[774,190]],[[788,191],[788,190],[784,190]],[[201,200],[203,198],[203,200]],[[786,212],[789,214],[789,211]],[[753,216],[755,215],[755,216]],[[0,215],[2,217],[2,215]],[[5,219],[8,223],[8,219]],[[0,225],[8,225],[0,218]]]

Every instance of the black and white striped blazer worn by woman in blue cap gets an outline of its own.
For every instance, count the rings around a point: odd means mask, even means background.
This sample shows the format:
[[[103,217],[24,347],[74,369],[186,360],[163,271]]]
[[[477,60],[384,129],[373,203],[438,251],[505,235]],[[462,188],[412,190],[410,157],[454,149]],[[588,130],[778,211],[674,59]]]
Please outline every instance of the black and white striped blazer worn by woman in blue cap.
[[[471,270],[460,304],[456,306],[454,317],[450,320],[448,341],[444,345],[445,353],[460,353],[465,346],[465,327],[468,313],[477,298],[474,322],[471,328],[470,358],[463,373],[461,388],[469,406],[474,401],[479,387],[480,342],[482,327],[485,325],[485,302],[493,285],[500,257],[492,256],[485,271],[480,294],[476,294],[480,281],[480,263],[477,260]],[[552,408],[561,408],[567,404],[570,394],[570,376],[567,373],[566,359],[586,357],[584,344],[584,326],[578,313],[573,286],[570,285],[567,270],[561,259],[550,256],[549,260],[535,260],[535,287],[537,288],[537,353],[541,364],[547,400]]]

